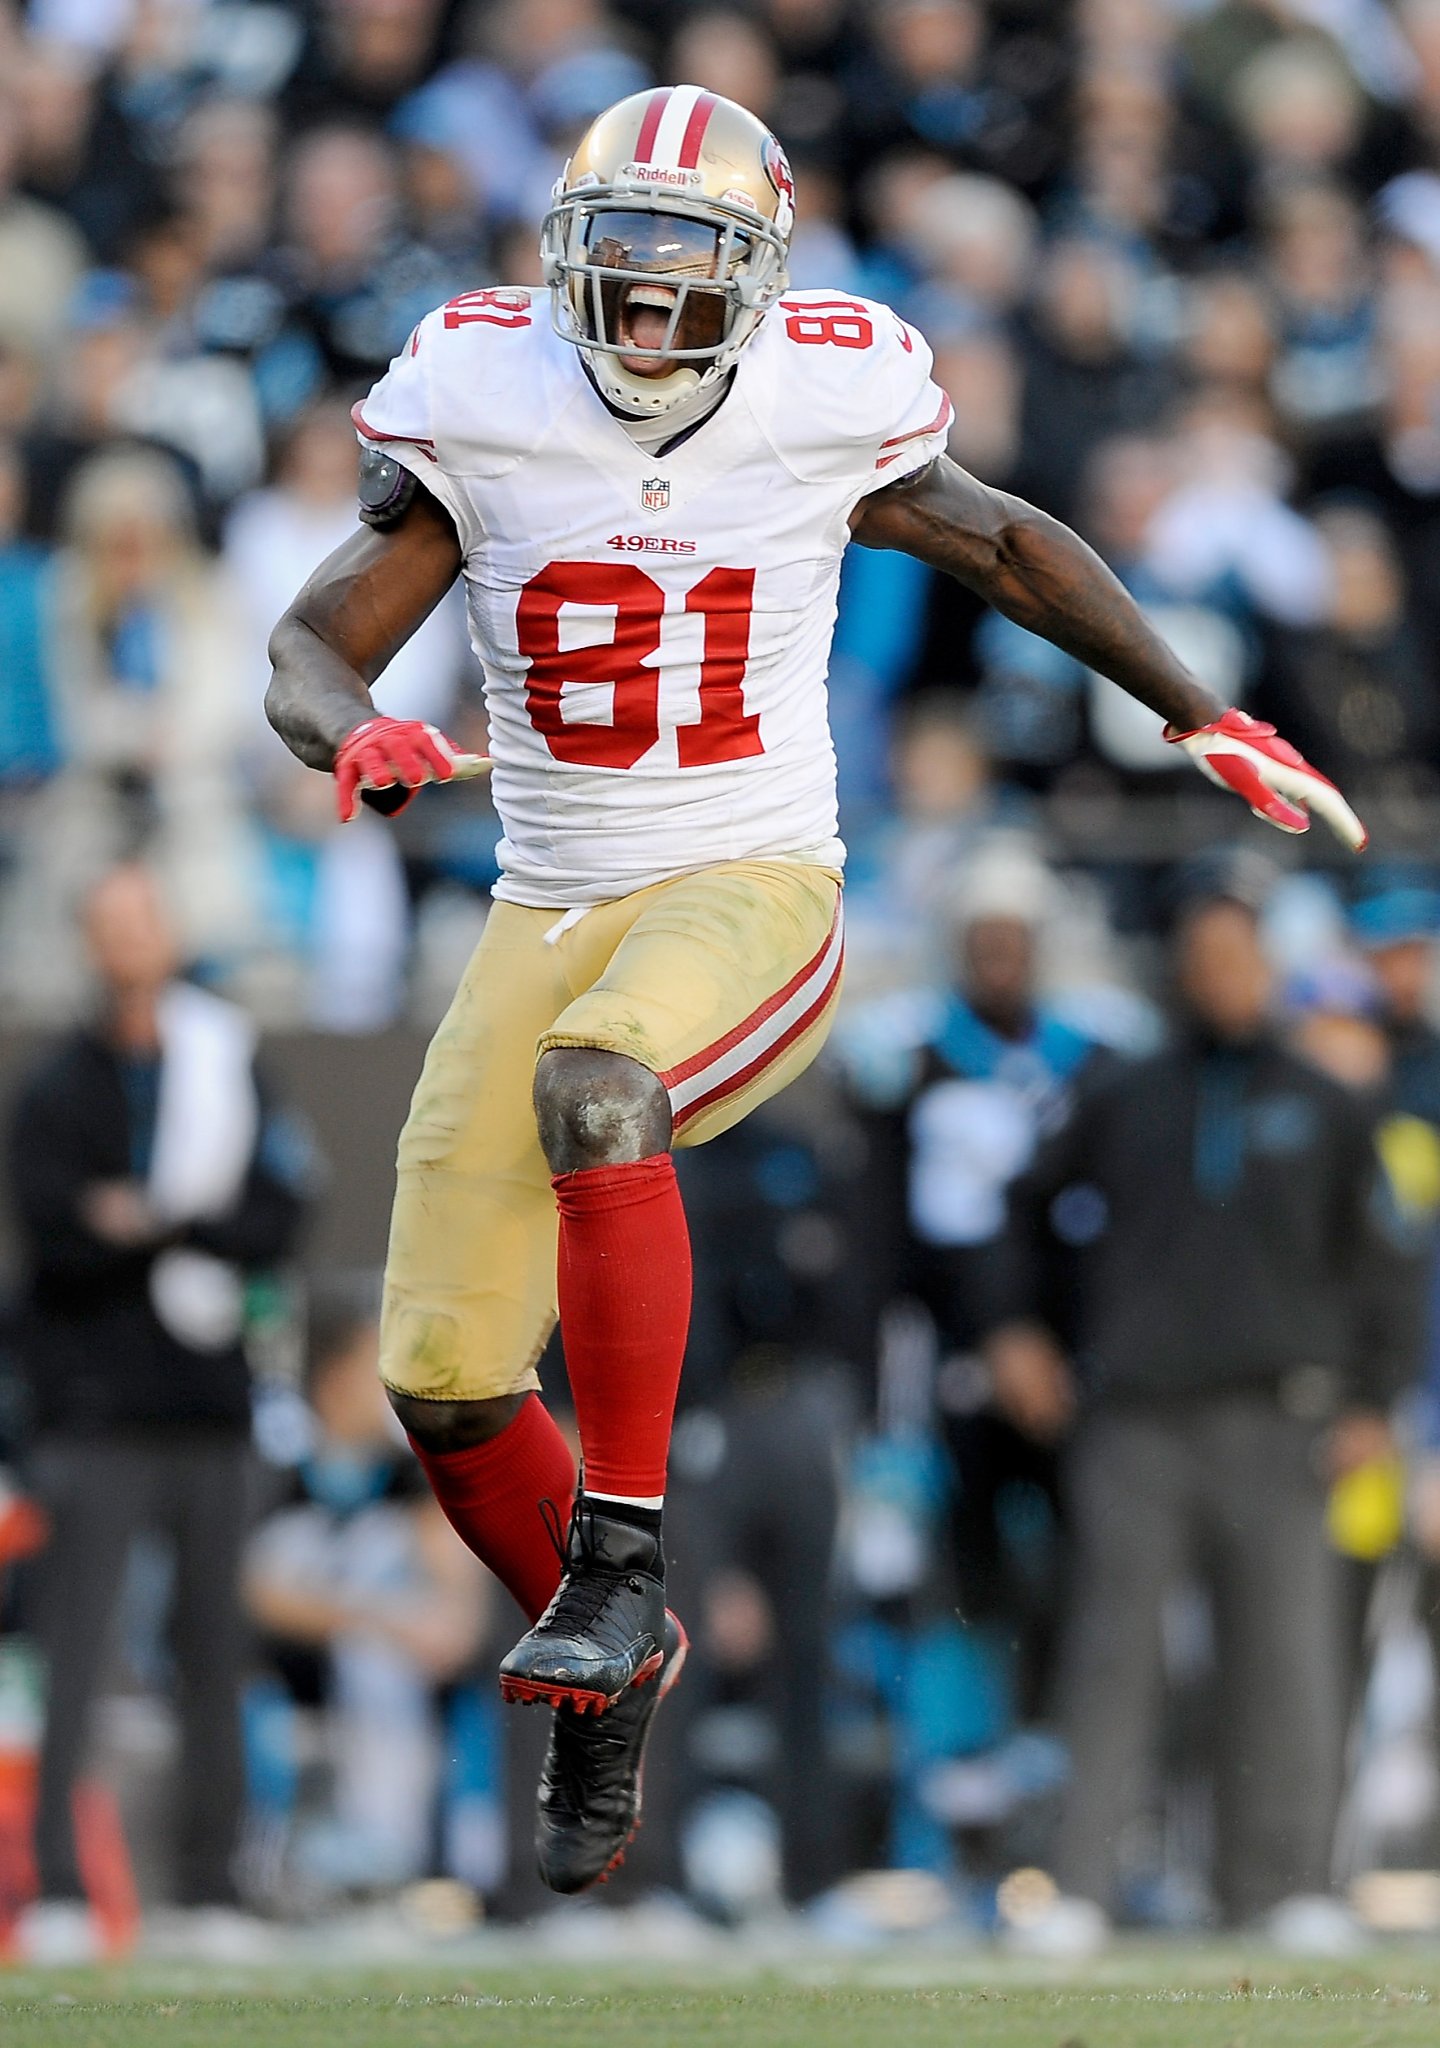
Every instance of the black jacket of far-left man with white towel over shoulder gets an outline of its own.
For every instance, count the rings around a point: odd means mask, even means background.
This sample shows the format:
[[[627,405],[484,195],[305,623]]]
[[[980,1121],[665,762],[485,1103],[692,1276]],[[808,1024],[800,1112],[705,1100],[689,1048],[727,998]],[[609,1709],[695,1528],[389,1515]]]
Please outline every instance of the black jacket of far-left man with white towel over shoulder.
[[[242,1346],[193,1352],[172,1337],[152,1307],[150,1270],[176,1243],[250,1270],[283,1260],[305,1208],[309,1149],[262,1096],[231,1212],[164,1245],[113,1245],[88,1229],[80,1198],[94,1182],[135,1176],[147,1108],[154,1118],[121,1055],[78,1030],[31,1073],[12,1112],[8,1188],[25,1249],[16,1339],[39,1432],[248,1427]]]

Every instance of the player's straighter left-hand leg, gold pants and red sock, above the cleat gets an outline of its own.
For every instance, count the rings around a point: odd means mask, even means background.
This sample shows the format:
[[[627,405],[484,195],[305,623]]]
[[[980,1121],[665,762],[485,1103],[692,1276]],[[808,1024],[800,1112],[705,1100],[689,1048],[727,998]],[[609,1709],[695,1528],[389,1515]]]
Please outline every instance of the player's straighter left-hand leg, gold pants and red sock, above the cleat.
[[[559,1583],[547,1518],[563,1528],[576,1477],[535,1372],[555,1327],[555,1200],[531,1079],[571,997],[553,922],[496,903],[430,1044],[399,1139],[381,1333],[440,1507],[531,1620]]]

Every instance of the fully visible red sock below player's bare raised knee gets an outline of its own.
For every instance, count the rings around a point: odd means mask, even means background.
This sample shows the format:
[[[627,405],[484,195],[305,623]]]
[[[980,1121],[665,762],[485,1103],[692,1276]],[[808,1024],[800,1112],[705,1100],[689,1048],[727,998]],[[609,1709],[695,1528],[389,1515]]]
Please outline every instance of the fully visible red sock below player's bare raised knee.
[[[674,1159],[557,1174],[559,1329],[588,1493],[666,1491],[690,1329],[690,1233]]]

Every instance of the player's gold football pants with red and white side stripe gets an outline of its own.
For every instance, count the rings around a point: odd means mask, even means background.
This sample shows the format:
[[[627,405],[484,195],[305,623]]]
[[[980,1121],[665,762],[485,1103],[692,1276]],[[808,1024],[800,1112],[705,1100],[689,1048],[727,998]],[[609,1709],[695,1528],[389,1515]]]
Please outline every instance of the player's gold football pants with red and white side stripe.
[[[840,881],[799,862],[701,868],[574,920],[496,903],[399,1137],[385,1382],[432,1401],[539,1384],[555,1327],[541,1053],[637,1059],[670,1096],[672,1143],[703,1145],[811,1063],[840,967]]]

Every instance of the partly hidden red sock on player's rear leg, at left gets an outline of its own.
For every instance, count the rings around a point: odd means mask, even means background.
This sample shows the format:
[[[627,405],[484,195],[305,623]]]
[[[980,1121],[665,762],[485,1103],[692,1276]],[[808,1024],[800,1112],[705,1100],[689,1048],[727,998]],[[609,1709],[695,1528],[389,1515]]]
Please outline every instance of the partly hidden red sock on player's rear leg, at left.
[[[471,1450],[410,1442],[455,1534],[539,1620],[559,1585],[541,1501],[555,1503],[563,1536],[576,1493],[576,1460],[541,1397],[531,1395],[500,1436]]]

